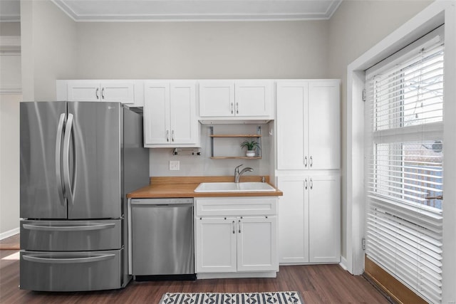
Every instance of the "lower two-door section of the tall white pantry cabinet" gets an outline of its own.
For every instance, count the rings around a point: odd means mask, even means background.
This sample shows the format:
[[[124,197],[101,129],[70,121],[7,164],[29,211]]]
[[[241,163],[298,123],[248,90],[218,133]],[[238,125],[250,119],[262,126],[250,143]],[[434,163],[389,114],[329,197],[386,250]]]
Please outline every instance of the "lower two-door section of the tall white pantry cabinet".
[[[279,176],[279,263],[341,260],[340,177]]]

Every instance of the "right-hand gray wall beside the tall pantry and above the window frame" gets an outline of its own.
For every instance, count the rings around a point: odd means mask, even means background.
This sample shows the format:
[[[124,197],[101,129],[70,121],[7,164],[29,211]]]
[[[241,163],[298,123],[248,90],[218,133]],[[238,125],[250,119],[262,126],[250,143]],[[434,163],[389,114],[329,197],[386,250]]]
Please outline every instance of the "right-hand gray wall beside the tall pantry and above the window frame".
[[[346,256],[347,65],[422,11],[432,1],[342,1],[329,21],[328,78],[341,78],[342,256]]]

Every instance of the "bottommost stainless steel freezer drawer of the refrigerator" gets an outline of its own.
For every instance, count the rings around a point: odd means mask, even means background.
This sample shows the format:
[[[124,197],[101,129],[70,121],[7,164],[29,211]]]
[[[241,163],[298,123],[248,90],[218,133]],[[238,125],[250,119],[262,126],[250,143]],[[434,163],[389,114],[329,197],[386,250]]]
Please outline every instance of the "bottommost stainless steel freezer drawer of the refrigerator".
[[[121,288],[122,255],[123,249],[46,253],[21,251],[20,287],[36,291]]]

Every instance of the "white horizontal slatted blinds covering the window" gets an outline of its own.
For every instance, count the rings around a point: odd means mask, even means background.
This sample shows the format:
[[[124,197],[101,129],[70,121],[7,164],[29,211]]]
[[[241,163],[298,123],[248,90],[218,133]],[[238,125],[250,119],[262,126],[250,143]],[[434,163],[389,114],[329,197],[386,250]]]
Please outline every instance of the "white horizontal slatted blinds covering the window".
[[[366,254],[441,303],[443,58],[439,28],[366,71]]]

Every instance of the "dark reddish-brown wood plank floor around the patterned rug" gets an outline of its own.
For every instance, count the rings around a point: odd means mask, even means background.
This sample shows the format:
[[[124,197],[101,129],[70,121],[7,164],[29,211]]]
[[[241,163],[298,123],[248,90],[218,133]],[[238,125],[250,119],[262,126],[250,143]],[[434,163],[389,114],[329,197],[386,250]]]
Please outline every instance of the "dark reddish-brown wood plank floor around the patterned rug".
[[[121,290],[43,293],[20,290],[19,261],[0,260],[0,303],[158,303],[163,293],[242,293],[296,290],[306,304],[390,303],[362,276],[338,265],[281,266],[277,278],[132,281]]]

